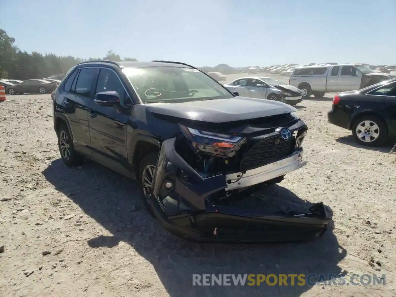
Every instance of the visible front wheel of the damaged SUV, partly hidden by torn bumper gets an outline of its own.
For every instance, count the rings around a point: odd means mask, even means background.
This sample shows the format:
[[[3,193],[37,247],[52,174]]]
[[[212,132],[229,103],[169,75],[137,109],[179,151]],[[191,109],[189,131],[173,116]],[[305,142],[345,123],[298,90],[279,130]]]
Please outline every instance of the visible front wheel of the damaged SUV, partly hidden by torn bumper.
[[[148,154],[139,164],[138,183],[141,188],[141,197],[143,204],[147,208],[150,215],[154,216],[150,205],[151,186],[154,181],[154,171],[157,166],[158,152]]]

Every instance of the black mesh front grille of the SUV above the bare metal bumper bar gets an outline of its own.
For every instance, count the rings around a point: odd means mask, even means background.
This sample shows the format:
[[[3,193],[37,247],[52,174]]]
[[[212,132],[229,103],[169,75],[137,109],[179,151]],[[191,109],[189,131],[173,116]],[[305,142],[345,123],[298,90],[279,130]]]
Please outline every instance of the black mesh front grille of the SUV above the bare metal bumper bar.
[[[261,167],[282,160],[295,150],[295,137],[281,140],[278,136],[263,139],[242,155],[241,171]]]

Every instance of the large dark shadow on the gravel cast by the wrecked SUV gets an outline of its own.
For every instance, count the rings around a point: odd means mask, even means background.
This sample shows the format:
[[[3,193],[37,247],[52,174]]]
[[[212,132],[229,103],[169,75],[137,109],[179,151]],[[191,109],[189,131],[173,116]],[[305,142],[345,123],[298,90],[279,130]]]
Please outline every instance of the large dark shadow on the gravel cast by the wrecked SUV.
[[[328,274],[341,273],[337,264],[346,256],[346,250],[339,246],[332,228],[321,238],[303,244],[199,244],[166,232],[144,208],[135,182],[95,162],[86,161],[81,169],[70,169],[58,159],[43,175],[113,234],[89,239],[90,247],[116,249],[119,242],[128,243],[153,265],[170,296],[297,297],[312,289],[308,284],[298,285],[297,278],[294,286],[290,279],[288,286],[269,286],[265,282],[260,286],[192,286],[192,274],[305,274],[312,275],[310,280],[314,282],[320,274],[327,279]],[[261,195],[274,197],[274,203],[286,196],[289,204],[310,205],[278,185],[268,187]],[[125,254],[120,257],[123,265],[130,265],[125,262]],[[269,280],[273,282],[274,278]]]

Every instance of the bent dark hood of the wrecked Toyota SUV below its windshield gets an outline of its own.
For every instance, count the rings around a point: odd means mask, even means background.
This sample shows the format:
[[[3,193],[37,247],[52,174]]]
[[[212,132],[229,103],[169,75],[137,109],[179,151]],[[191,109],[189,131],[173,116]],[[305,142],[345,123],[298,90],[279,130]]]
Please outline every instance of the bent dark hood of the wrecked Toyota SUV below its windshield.
[[[239,96],[185,103],[149,103],[146,107],[152,113],[210,123],[249,120],[297,111],[286,103]]]

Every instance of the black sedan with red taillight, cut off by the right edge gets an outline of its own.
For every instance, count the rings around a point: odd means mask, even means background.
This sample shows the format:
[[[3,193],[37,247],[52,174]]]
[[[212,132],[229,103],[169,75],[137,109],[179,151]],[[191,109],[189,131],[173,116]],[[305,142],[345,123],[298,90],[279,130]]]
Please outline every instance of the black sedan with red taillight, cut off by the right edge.
[[[352,130],[361,145],[377,146],[396,136],[396,78],[335,95],[327,118]]]

